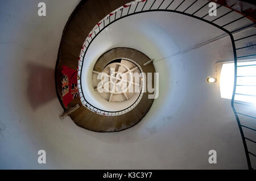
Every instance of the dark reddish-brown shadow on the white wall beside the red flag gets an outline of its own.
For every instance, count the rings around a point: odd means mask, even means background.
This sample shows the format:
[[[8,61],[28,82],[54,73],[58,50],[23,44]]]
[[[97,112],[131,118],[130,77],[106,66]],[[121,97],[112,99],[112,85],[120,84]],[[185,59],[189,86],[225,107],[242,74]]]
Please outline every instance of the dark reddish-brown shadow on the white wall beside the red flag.
[[[57,98],[55,90],[55,70],[32,62],[27,64],[27,97],[32,109]]]

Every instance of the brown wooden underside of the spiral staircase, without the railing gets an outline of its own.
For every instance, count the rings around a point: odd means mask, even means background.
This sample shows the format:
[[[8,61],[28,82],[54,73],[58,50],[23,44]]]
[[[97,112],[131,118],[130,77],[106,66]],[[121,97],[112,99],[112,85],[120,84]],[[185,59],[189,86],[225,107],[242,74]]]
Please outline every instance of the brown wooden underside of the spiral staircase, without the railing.
[[[85,0],[81,1],[73,11],[63,31],[55,71],[57,95],[62,106],[61,66],[66,65],[69,66],[69,68],[76,69],[78,66],[82,45],[92,28],[110,12],[114,11],[118,7],[121,7],[122,5],[125,5],[127,2],[130,1]],[[134,49],[116,48],[104,53],[104,56],[105,60],[113,60],[117,57],[129,58],[141,65],[144,72],[155,72],[153,64],[143,66],[144,62],[150,60],[150,58]],[[101,68],[102,65],[96,64],[96,68]],[[114,132],[127,129],[137,124],[143,118],[143,116],[146,115],[153,100],[154,99],[148,99],[148,92],[144,92],[141,101],[133,110],[119,116],[98,115],[97,113],[92,112],[88,110],[88,108],[82,106],[79,98],[72,100],[68,107],[63,106],[63,108],[64,110],[67,110],[68,108],[79,104],[80,108],[69,114],[75,124],[91,131]]]

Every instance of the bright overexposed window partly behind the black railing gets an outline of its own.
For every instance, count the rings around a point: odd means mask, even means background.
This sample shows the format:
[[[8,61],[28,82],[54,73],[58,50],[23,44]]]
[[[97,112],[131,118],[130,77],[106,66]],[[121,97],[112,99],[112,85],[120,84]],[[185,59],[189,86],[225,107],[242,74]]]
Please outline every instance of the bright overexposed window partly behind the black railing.
[[[221,98],[232,99],[234,63],[223,64],[220,77]],[[237,62],[237,87],[234,100],[256,104],[256,61]]]

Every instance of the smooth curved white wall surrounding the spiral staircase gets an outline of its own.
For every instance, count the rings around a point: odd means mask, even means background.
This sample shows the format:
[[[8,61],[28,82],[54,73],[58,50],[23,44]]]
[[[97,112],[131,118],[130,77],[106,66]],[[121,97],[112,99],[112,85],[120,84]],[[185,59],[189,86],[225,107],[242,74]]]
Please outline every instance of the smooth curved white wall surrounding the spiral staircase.
[[[86,55],[96,61],[108,49],[130,47],[156,60],[168,57],[154,62],[159,98],[138,125],[95,133],[69,117],[61,121],[54,69],[61,33],[78,2],[46,1],[42,18],[36,1],[1,1],[1,169],[247,169],[230,100],[220,98],[218,83],[206,82],[217,60],[233,58],[230,40],[179,54],[223,34],[179,14],[119,20]],[[46,164],[37,162],[40,149]],[[217,151],[214,165],[208,163],[211,149]]]

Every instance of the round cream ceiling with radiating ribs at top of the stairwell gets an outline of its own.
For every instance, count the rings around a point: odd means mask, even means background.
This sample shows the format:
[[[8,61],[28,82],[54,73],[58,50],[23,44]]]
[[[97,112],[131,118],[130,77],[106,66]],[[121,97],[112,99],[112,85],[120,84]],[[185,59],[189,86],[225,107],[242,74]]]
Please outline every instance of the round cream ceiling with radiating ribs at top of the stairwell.
[[[93,70],[94,90],[108,102],[119,102],[130,107],[143,92],[141,67],[132,60],[117,58],[105,65],[101,72]]]

